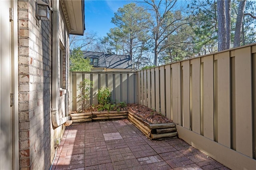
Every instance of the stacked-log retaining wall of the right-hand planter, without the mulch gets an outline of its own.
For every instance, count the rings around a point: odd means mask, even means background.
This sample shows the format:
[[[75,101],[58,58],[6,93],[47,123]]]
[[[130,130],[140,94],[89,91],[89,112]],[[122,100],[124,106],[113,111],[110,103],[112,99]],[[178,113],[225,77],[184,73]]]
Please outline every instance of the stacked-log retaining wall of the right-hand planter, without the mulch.
[[[128,120],[150,139],[176,138],[178,136],[174,123],[152,124],[131,111],[128,111]]]

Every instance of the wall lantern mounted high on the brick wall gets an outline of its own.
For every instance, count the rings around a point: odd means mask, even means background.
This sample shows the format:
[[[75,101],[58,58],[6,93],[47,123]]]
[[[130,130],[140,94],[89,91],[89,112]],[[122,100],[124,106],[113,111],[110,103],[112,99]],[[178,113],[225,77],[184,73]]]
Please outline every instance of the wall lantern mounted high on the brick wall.
[[[36,18],[38,20],[50,20],[50,6],[42,0],[36,1]]]

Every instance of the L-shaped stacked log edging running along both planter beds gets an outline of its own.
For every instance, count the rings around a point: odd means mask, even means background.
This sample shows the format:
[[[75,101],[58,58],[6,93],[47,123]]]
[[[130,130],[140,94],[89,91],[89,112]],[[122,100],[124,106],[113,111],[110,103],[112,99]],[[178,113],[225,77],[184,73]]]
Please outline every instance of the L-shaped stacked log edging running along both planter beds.
[[[161,140],[164,138],[176,138],[178,132],[174,123],[152,124],[130,111],[102,111],[89,113],[71,113],[72,123],[106,121],[113,119],[128,119],[150,140]]]

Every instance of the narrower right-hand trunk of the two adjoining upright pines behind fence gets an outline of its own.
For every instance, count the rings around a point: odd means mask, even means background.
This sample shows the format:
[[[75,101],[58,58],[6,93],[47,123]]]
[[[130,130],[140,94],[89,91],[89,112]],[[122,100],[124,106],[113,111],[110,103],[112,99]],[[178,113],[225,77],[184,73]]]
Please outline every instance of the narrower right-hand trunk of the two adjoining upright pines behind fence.
[[[225,12],[226,12],[226,48],[230,48],[230,32],[231,32],[231,17],[230,17],[230,9],[231,9],[231,0],[225,0]]]

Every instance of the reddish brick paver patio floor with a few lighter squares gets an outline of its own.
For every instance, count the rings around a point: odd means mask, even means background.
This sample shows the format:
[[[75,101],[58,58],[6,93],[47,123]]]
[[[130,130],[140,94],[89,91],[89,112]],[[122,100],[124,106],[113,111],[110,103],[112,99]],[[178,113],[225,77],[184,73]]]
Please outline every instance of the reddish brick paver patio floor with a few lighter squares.
[[[70,125],[52,170],[228,170],[184,140],[148,140],[128,120]]]

